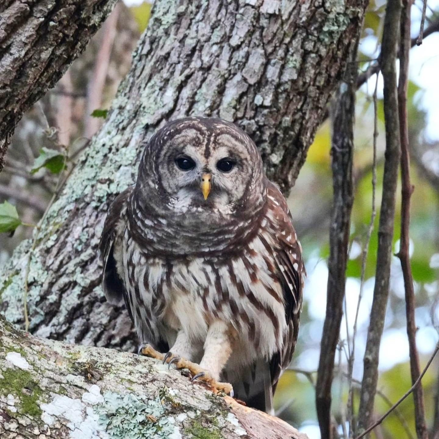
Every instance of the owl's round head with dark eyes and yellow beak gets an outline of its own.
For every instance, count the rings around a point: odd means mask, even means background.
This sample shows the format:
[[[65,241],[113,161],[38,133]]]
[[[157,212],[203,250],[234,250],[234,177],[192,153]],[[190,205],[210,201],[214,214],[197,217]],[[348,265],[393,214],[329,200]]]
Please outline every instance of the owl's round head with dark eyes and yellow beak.
[[[251,214],[265,200],[254,142],[230,122],[191,117],[169,122],[148,142],[136,191],[159,212]]]

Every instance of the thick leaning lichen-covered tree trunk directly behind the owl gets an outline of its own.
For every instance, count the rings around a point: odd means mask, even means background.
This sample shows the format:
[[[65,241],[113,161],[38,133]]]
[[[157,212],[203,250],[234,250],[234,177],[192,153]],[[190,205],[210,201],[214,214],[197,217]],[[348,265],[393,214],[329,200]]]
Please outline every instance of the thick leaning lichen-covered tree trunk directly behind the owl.
[[[216,115],[256,142],[268,176],[288,191],[360,32],[366,0],[156,0],[100,132],[69,176],[35,249],[20,245],[0,277],[0,309],[30,331],[133,349],[123,308],[101,291],[97,245],[108,205],[132,184],[149,137],[168,119]]]

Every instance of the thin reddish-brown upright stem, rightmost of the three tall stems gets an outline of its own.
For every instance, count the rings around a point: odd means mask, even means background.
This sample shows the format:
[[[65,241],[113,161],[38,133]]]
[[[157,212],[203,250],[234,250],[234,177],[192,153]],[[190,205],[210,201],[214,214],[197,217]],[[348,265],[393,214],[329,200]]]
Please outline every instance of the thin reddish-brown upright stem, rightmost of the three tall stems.
[[[426,2],[424,3],[424,5]],[[409,73],[410,52],[410,7],[412,0],[403,0],[401,14],[401,38],[399,48],[399,83],[398,83],[398,112],[399,131],[401,138],[401,237],[397,256],[401,261],[404,278],[406,298],[407,337],[410,351],[410,374],[412,384],[416,382],[421,373],[419,355],[416,348],[416,324],[414,317],[414,288],[410,267],[409,255],[409,226],[410,226],[410,197],[414,187],[410,183],[410,155],[409,155],[409,129],[407,122],[407,84]],[[428,430],[425,423],[424,392],[422,385],[413,391],[415,425],[418,439],[428,439]]]

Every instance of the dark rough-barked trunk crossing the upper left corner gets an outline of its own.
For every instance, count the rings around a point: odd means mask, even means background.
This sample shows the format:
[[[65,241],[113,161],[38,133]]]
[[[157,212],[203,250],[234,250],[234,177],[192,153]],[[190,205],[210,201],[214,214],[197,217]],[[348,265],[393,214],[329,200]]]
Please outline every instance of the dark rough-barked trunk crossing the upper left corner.
[[[85,49],[116,0],[0,2],[0,171],[23,113]]]

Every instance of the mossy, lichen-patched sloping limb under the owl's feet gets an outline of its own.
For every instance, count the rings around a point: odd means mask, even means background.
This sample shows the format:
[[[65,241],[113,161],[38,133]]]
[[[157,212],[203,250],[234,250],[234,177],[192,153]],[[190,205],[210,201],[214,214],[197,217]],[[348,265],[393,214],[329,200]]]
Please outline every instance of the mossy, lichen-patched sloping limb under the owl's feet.
[[[307,439],[157,360],[17,331],[0,317],[0,436]]]

